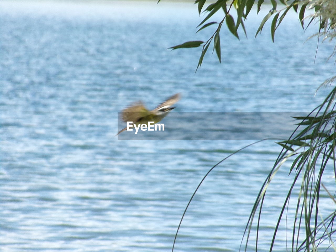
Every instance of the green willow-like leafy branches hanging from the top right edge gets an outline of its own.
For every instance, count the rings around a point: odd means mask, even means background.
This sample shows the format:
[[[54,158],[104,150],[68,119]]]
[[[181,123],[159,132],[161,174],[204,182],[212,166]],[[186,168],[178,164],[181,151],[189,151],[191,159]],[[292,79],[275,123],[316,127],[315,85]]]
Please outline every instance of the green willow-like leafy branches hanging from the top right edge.
[[[160,0],[158,1],[160,2]],[[209,4],[206,8],[204,8],[207,0],[196,0],[195,4],[197,4],[198,12],[201,15],[203,13],[205,18],[202,20],[202,22],[197,26],[200,27],[196,33],[200,32],[201,30],[207,28],[210,29],[212,25],[217,24],[217,28],[211,35],[211,37],[203,41],[188,41],[176,46],[172,46],[168,49],[178,49],[178,48],[191,48],[191,47],[200,47],[202,46],[201,55],[198,61],[198,65],[196,68],[196,71],[198,68],[202,65],[204,55],[206,54],[210,44],[213,42],[213,51],[216,51],[217,57],[219,62],[221,62],[221,46],[220,46],[220,30],[222,28],[222,24],[224,23],[224,20],[226,21],[226,27],[232,33],[235,37],[239,39],[238,35],[238,28],[242,27],[245,36],[246,36],[246,29],[244,26],[244,22],[250,13],[253,5],[255,5],[255,0],[234,0],[231,1],[228,4],[228,0],[217,0],[215,3]],[[304,20],[310,19],[308,25],[306,28],[312,23],[313,20],[318,20],[320,23],[319,31],[317,35],[319,36],[325,36],[324,39],[330,38],[333,39],[336,37],[336,13],[330,13],[330,9],[333,9],[334,12],[336,12],[336,2],[334,0],[280,0],[281,4],[284,5],[284,8],[277,10],[278,3],[276,0],[270,0],[272,4],[272,9],[264,16],[262,19],[255,37],[261,33],[265,23],[267,20],[273,16],[273,19],[271,21],[270,26],[270,34],[271,39],[274,42],[275,38],[275,32],[282,23],[283,19],[285,18],[287,12],[290,9],[294,9],[296,13],[298,13],[299,21],[304,29]],[[257,13],[259,13],[261,6],[264,4],[264,0],[258,0],[257,1]],[[227,9],[227,6],[228,9]],[[232,8],[234,7],[234,8]],[[300,9],[299,9],[300,7]],[[203,10],[204,9],[204,10]],[[230,14],[230,11],[232,9],[235,9],[237,12],[236,20],[234,19],[233,15]],[[310,14],[308,16],[305,16],[307,9],[314,9],[314,13]],[[203,11],[202,11],[203,10]],[[206,23],[206,21],[211,18],[216,12],[219,10],[223,10],[224,17],[219,22],[209,22]],[[206,23],[206,24],[205,24]],[[203,26],[202,26],[203,25]],[[334,48],[333,54],[336,52],[336,46]],[[332,55],[333,55],[332,54]]]

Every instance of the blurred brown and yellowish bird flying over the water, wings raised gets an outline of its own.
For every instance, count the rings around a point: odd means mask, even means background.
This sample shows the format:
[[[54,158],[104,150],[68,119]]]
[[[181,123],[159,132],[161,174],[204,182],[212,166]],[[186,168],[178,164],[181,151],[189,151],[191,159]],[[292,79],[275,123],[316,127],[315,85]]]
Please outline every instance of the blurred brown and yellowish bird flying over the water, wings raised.
[[[174,94],[169,97],[167,100],[158,105],[154,110],[149,111],[146,109],[142,103],[142,101],[137,101],[133,103],[128,108],[122,110],[122,120],[124,122],[133,122],[138,126],[139,124],[146,124],[148,122],[158,123],[164,118],[171,110],[175,109],[172,107],[174,103],[176,103],[180,99],[181,95],[179,93]],[[127,127],[123,128],[118,132],[121,133],[126,130]],[[117,134],[117,135],[118,135]]]

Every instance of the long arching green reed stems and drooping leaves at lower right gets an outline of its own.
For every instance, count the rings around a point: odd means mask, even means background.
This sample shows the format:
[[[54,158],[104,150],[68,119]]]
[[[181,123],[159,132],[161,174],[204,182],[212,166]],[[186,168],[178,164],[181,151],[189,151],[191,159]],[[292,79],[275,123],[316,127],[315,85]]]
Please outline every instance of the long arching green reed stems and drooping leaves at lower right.
[[[294,174],[293,182],[288,188],[278,220],[273,227],[273,235],[269,245],[269,251],[274,251],[277,234],[281,224],[286,226],[286,251],[336,251],[336,227],[334,220],[336,210],[330,210],[326,215],[326,209],[320,211],[321,192],[330,199],[330,206],[336,203],[336,187],[327,188],[323,183],[324,172],[332,172],[336,177],[336,87],[327,95],[325,100],[305,117],[294,117],[299,121],[297,128],[286,141],[277,142],[283,148],[278,155],[273,167],[265,178],[260,191],[252,207],[245,228],[240,251],[247,251],[254,243],[254,251],[259,251],[261,220],[263,218],[263,204],[267,197],[267,188],[280,169],[288,169],[284,163],[290,163],[288,174]],[[186,214],[188,206],[193,200],[202,182],[210,172],[220,163],[238,152],[258,142],[270,140],[262,139],[244,146],[219,161],[201,179],[188,201],[175,233],[172,252],[176,243],[179,228]],[[335,180],[336,182],[336,180]],[[331,193],[331,191],[333,193]],[[290,199],[292,199],[290,201]],[[293,199],[295,199],[293,201]],[[335,204],[336,205],[336,204]],[[290,216],[288,209],[295,209]],[[286,213],[286,214],[285,214]],[[327,217],[323,217],[327,216]],[[293,223],[290,223],[293,220]],[[285,222],[285,224],[283,223]],[[292,230],[289,232],[289,227]],[[253,237],[253,239],[252,239]],[[288,237],[288,239],[287,239]],[[289,239],[290,238],[290,239]],[[328,246],[326,247],[326,244]],[[285,247],[285,245],[284,245]],[[322,248],[322,250],[320,250]]]

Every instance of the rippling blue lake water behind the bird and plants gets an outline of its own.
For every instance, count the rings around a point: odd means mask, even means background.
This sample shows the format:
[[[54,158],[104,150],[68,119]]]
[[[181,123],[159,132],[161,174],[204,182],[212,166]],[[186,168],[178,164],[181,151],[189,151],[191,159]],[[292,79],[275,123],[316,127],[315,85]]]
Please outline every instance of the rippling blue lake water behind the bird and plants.
[[[222,29],[222,63],[209,54],[195,74],[199,49],[166,49],[211,35],[195,35],[192,2],[1,1],[0,250],[169,251],[203,175],[252,140],[117,140],[118,112],[177,92],[177,113],[316,107],[329,89],[315,90],[334,75],[332,45],[321,44],[314,63],[317,39],[305,42],[314,30],[304,33],[291,12],[275,43],[267,25],[254,39],[267,11],[248,20],[248,39]],[[261,142],[216,167],[175,251],[238,251],[279,151]],[[269,188],[258,251],[267,251],[288,166]]]

